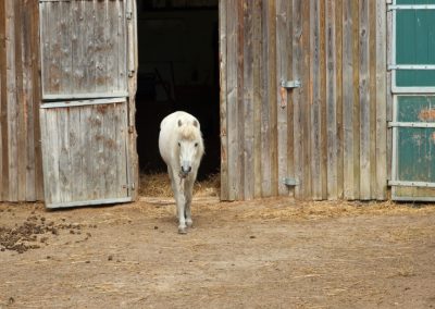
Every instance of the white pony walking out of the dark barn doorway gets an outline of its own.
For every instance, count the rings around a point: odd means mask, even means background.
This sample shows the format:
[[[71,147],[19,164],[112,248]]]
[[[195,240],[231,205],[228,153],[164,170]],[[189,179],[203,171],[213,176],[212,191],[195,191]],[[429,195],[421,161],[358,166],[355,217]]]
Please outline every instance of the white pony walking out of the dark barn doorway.
[[[186,112],[174,112],[160,124],[159,150],[167,165],[177,207],[178,233],[186,234],[191,221],[191,195],[204,152],[198,120]]]

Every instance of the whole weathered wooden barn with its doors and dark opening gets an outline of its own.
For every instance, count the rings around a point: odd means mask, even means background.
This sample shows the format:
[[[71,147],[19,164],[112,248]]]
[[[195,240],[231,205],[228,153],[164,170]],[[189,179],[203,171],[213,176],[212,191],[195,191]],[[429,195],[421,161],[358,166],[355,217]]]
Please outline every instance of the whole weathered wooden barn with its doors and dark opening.
[[[434,0],[1,0],[0,201],[135,200],[178,109],[223,200],[435,200],[434,24]]]

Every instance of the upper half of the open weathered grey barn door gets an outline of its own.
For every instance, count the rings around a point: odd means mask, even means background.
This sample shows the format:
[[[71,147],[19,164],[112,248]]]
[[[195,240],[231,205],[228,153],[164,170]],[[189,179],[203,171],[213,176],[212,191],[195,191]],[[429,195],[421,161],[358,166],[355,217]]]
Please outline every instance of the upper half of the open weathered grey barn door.
[[[39,4],[42,99],[127,96],[125,2]]]

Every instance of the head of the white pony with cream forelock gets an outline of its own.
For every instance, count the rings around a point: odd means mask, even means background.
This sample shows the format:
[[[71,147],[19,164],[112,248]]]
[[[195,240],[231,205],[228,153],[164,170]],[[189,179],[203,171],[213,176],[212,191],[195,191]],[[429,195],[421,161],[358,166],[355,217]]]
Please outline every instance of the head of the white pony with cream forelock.
[[[199,123],[178,120],[178,153],[179,153],[179,176],[186,177],[192,168],[199,166],[199,161],[203,154],[203,143]]]

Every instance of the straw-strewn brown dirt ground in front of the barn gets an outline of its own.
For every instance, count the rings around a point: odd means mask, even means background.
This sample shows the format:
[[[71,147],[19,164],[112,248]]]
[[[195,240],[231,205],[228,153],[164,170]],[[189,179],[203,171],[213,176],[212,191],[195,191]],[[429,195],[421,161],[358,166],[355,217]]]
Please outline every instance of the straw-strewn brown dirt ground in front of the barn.
[[[0,203],[0,308],[435,308],[435,206]]]

